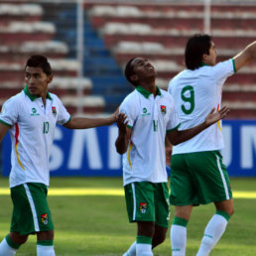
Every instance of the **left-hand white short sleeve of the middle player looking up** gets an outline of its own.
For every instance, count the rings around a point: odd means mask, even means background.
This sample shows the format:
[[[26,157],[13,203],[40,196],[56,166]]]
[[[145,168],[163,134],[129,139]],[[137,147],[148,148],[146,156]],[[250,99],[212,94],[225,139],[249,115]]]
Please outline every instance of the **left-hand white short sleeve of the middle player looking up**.
[[[133,128],[135,121],[137,120],[137,105],[135,98],[131,100],[131,97],[125,98],[119,107],[119,113],[124,113],[127,116],[127,127]]]

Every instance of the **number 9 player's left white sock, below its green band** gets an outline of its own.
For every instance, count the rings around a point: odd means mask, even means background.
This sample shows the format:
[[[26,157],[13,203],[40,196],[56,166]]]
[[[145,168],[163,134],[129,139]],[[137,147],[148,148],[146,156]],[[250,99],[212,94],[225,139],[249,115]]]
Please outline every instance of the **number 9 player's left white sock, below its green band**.
[[[171,227],[171,245],[173,256],[185,256],[187,245],[187,227],[172,224]]]

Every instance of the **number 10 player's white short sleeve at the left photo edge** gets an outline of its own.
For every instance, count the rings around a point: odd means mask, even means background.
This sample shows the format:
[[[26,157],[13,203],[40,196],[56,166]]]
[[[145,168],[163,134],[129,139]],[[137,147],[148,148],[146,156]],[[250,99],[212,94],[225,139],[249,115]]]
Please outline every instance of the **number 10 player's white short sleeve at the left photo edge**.
[[[13,126],[18,121],[19,116],[19,101],[15,99],[15,97],[12,97],[8,99],[2,107],[1,113],[0,113],[0,122]]]

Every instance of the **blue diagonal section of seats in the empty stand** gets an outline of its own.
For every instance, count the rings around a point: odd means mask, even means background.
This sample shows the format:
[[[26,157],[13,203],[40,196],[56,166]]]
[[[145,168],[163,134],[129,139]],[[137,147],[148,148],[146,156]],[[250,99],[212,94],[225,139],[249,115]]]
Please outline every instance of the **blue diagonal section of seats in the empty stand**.
[[[46,15],[44,20],[56,25],[56,40],[67,44],[68,57],[76,56],[76,7],[73,4],[56,5],[43,4]],[[55,6],[55,5],[54,5]],[[84,9],[84,56],[83,75],[92,81],[91,94],[104,98],[104,111],[112,112],[121,103],[125,95],[131,91],[131,86],[123,78],[120,65],[113,58],[104,41],[88,20],[88,13]],[[58,19],[57,19],[58,18]],[[66,26],[64,27],[64,24]],[[96,101],[95,101],[96,102]]]

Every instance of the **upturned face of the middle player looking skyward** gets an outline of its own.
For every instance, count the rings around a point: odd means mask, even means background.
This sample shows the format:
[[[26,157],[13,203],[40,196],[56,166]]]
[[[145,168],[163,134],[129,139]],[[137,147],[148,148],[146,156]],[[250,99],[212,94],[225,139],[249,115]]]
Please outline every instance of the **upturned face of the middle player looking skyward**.
[[[139,80],[157,76],[157,71],[155,67],[147,59],[136,58],[132,62],[132,65],[133,65],[133,70],[138,76]]]

